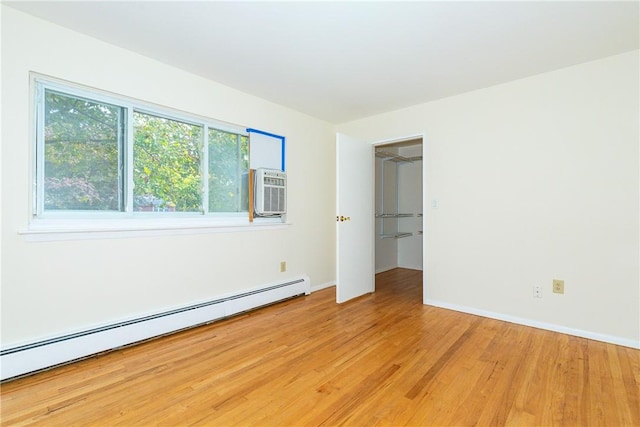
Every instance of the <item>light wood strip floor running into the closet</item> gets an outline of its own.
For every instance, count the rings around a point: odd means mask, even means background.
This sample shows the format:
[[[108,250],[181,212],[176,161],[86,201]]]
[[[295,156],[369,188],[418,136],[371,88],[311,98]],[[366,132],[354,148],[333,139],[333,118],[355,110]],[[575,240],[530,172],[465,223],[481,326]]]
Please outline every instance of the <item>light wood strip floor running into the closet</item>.
[[[2,425],[640,426],[640,350],[422,305],[421,272],[1,386]]]

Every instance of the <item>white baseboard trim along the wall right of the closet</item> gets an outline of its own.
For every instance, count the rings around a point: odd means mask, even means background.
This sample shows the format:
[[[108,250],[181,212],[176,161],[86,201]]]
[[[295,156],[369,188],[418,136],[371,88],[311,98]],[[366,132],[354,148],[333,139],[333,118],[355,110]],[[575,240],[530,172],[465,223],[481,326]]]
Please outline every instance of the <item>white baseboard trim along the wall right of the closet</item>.
[[[446,308],[448,310],[459,311],[467,314],[475,314],[477,316],[488,317],[490,319],[496,319],[496,320],[503,320],[505,322],[515,323],[518,325],[531,326],[533,328],[544,329],[547,331],[559,332],[562,334],[573,335],[581,338],[588,338],[595,341],[602,341],[609,344],[616,344],[624,347],[640,349],[640,341],[635,341],[628,338],[600,334],[597,332],[585,331],[582,329],[568,328],[566,326],[539,322],[537,320],[526,319],[524,317],[510,316],[508,314],[496,313],[493,311],[481,310],[478,308],[461,306],[457,304],[450,304],[447,302],[437,301],[432,299],[425,299],[424,303],[426,305],[432,305],[434,307]]]

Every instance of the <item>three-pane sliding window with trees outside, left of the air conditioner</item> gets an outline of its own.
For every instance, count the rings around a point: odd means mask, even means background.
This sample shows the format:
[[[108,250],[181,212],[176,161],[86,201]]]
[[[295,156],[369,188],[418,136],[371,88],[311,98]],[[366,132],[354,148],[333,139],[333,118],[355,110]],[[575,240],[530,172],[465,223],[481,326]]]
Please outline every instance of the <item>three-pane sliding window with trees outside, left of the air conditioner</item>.
[[[37,217],[248,211],[244,129],[36,80]]]

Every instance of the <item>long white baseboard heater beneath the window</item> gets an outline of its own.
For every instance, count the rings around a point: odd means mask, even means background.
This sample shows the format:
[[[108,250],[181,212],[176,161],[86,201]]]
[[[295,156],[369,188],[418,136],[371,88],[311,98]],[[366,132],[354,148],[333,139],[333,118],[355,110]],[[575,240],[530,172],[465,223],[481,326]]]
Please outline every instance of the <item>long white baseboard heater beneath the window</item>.
[[[308,277],[0,351],[0,380],[210,323],[311,292]]]

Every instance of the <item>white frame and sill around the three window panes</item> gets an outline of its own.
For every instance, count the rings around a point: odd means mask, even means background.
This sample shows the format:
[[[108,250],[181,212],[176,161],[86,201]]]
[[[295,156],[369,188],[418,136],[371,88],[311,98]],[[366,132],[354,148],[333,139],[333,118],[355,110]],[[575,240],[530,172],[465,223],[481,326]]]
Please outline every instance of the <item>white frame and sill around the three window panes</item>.
[[[209,129],[216,129],[249,137],[246,127],[232,125],[209,117],[187,113],[170,107],[159,106],[140,101],[123,95],[117,95],[106,91],[89,88],[79,84],[61,81],[48,76],[32,73],[31,102],[33,120],[32,135],[34,142],[31,146],[33,152],[33,194],[31,216],[26,229],[20,230],[24,235],[43,234],[100,234],[104,232],[113,235],[127,234],[127,232],[170,230],[203,231],[230,231],[231,229],[245,229],[247,227],[264,228],[265,225],[282,225],[285,218],[256,218],[249,222],[247,211],[242,212],[210,212],[209,211]],[[45,142],[44,142],[44,104],[45,91],[52,90],[62,95],[75,96],[92,102],[105,103],[125,109],[123,123],[124,135],[120,149],[124,153],[119,154],[119,162],[123,164],[123,210],[122,211],[91,211],[91,210],[46,210],[44,209],[44,178],[45,178]],[[133,150],[134,150],[134,112],[151,114],[162,118],[177,120],[203,128],[203,145],[200,156],[201,168],[201,211],[200,212],[136,212],[133,203]],[[250,151],[250,150],[249,150]],[[121,159],[121,160],[120,160]],[[182,233],[181,233],[182,234]],[[61,237],[61,236],[58,236]],[[99,237],[99,236],[98,236]],[[62,236],[63,240],[69,236]],[[91,236],[80,237],[91,238]],[[59,240],[59,239],[55,239]]]

